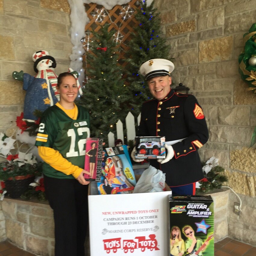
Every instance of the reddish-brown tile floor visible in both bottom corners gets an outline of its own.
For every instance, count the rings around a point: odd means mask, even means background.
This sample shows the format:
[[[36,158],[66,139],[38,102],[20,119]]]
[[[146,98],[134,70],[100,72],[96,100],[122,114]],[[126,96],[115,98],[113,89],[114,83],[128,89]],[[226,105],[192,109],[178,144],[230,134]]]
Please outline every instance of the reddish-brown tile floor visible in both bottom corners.
[[[214,244],[214,256],[256,256],[256,247],[231,238],[225,238]],[[0,256],[36,256],[4,241],[0,242]]]

